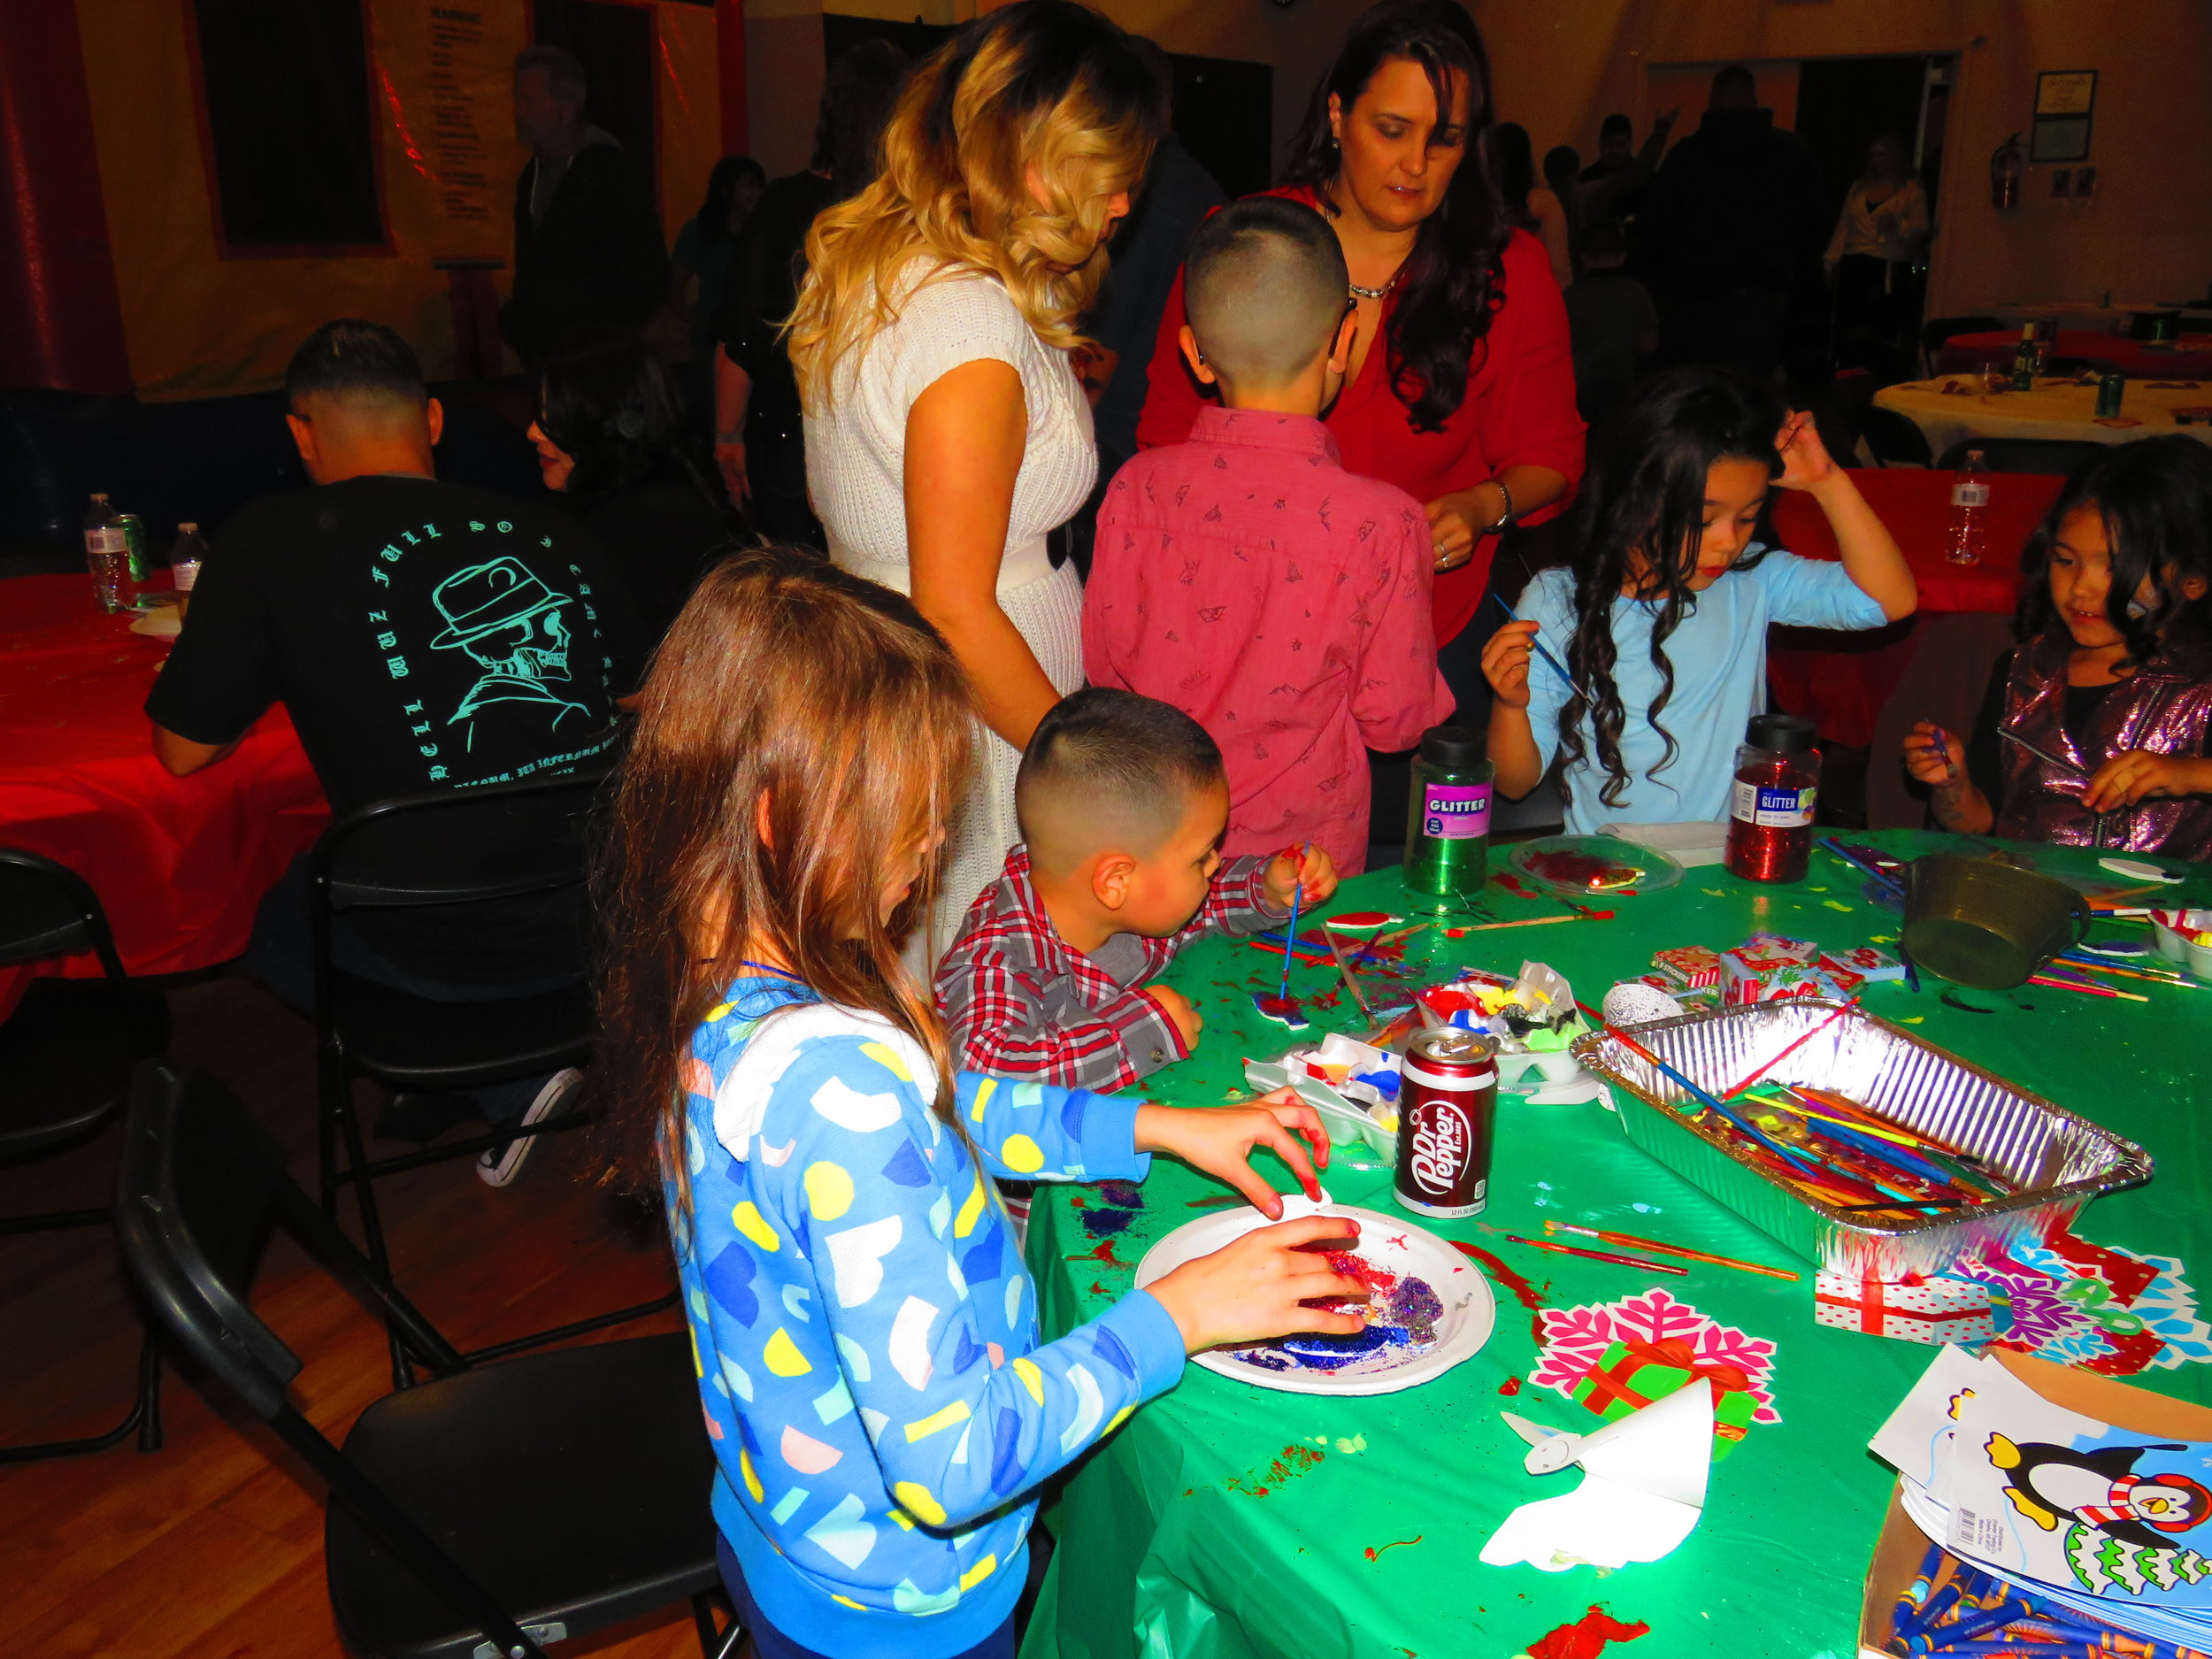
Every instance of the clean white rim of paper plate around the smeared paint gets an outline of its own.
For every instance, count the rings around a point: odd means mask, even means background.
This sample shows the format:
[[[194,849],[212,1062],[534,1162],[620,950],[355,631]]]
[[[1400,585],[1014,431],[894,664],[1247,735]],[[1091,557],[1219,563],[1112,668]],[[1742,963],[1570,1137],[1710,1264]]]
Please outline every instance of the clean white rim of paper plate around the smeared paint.
[[[1237,1358],[1237,1349],[1206,1349],[1192,1354],[1192,1363],[1239,1383],[1283,1394],[1398,1394],[1440,1378],[1460,1360],[1480,1354],[1482,1345],[1491,1340],[1491,1327],[1498,1321],[1491,1281],[1433,1232],[1416,1228],[1402,1214],[1380,1214],[1349,1203],[1312,1206],[1298,1197],[1283,1201],[1285,1221],[1301,1214],[1352,1217],[1360,1223],[1358,1250],[1367,1263],[1400,1279],[1427,1281],[1442,1303],[1442,1312],[1436,1316],[1436,1343],[1411,1358],[1405,1347],[1380,1347],[1338,1369],[1294,1365],[1285,1371],[1270,1371]],[[1208,1256],[1232,1239],[1265,1225],[1272,1225],[1267,1217],[1252,1208],[1186,1221],[1144,1252],[1144,1261],[1137,1263],[1137,1287],[1141,1290],[1186,1261]]]

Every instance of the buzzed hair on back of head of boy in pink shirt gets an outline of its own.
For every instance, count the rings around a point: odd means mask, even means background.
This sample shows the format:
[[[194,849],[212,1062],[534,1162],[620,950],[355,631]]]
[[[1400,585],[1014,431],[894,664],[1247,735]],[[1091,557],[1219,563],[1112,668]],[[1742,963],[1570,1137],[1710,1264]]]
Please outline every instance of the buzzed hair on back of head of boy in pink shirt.
[[[1232,201],[1190,239],[1183,312],[1208,367],[1237,387],[1285,385],[1329,349],[1352,272],[1329,221],[1303,201]]]

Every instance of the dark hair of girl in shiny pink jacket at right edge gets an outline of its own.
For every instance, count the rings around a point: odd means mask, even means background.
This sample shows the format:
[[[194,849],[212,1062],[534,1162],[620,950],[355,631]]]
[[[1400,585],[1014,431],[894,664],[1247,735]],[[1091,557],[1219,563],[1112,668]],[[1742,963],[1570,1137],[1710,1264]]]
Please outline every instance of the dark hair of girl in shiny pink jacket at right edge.
[[[2059,526],[2084,507],[2104,518],[2112,549],[2104,615],[2128,641],[2119,668],[2141,668],[2172,628],[2212,633],[2212,449],[2172,434],[2112,445],[2066,478],[2020,553],[2024,586],[2015,630],[2022,639],[2066,626],[2051,604],[2051,555]],[[2183,593],[2190,577],[2205,582],[2208,593],[2190,599]],[[2152,602],[2137,615],[2132,604],[2143,584]]]

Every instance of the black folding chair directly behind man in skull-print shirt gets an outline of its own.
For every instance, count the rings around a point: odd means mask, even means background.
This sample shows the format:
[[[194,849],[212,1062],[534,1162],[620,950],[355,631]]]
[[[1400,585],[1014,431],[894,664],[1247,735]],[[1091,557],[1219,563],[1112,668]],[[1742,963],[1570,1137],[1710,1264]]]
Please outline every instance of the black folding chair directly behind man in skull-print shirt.
[[[354,1190],[363,1245],[387,1283],[392,1256],[376,1208],[380,1177],[473,1157],[504,1146],[513,1135],[551,1135],[591,1121],[588,1113],[562,1113],[529,1128],[372,1159],[363,1146],[352,1079],[369,1077],[385,1088],[458,1091],[538,1077],[591,1060],[597,1035],[586,982],[591,814],[602,783],[602,772],[588,772],[376,801],[334,823],[314,847],[310,869],[323,1210],[336,1217],[341,1190]],[[522,909],[531,914],[533,945],[518,969],[511,929]],[[378,918],[389,918],[387,931],[372,940],[387,958],[405,956],[409,936],[420,936],[425,925],[438,927],[440,947],[420,962],[438,980],[473,975],[495,982],[526,971],[540,982],[557,984],[473,1002],[398,991],[347,973],[332,960],[338,918],[354,927],[376,927]],[[509,940],[504,956],[489,960],[502,936]],[[469,1358],[520,1354],[672,1305],[675,1292],[668,1292],[650,1303],[476,1349]],[[392,1376],[396,1387],[414,1380],[398,1332]]]

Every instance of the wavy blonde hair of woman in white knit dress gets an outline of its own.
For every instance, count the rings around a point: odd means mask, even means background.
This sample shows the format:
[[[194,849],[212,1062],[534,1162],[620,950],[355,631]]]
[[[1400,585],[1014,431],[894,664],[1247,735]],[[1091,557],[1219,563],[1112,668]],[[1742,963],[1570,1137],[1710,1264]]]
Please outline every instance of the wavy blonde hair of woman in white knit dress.
[[[936,261],[925,281],[998,276],[1040,341],[1077,345],[1106,204],[1137,188],[1166,124],[1166,88],[1088,7],[1020,0],[967,24],[907,82],[876,181],[807,232],[787,323],[801,400],[818,409],[838,363],[898,316],[916,259]]]

